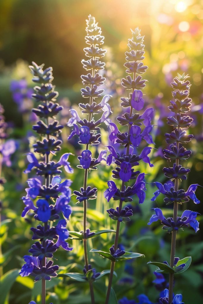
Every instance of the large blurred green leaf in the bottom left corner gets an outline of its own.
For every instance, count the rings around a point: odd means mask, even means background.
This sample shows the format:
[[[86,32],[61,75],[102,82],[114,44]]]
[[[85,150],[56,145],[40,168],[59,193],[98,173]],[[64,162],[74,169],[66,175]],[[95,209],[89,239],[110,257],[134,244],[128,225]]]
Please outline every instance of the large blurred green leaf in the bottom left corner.
[[[1,295],[1,304],[5,303],[6,297],[9,294],[9,291],[16,281],[17,276],[19,275],[19,269],[12,269],[6,272],[0,279],[0,295]]]

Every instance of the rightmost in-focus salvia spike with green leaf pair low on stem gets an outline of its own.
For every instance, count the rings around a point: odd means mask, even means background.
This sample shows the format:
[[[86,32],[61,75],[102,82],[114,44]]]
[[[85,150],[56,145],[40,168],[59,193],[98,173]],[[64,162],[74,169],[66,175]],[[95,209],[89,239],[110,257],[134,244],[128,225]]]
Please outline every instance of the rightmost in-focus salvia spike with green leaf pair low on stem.
[[[161,184],[160,182],[155,182],[158,190],[154,193],[152,201],[156,200],[159,194],[165,196],[164,202],[166,205],[173,204],[173,216],[166,218],[160,208],[152,208],[155,214],[152,215],[148,225],[157,220],[160,220],[163,230],[168,233],[172,233],[171,240],[171,255],[170,263],[164,261],[160,262],[149,262],[148,264],[154,264],[158,266],[156,270],[158,273],[169,273],[169,288],[165,289],[164,295],[159,299],[161,304],[181,304],[182,295],[173,295],[173,278],[175,274],[182,273],[187,270],[191,264],[191,257],[185,257],[179,259],[175,257],[176,249],[176,235],[179,231],[183,231],[184,228],[191,226],[195,232],[199,230],[199,223],[197,221],[198,212],[191,210],[184,210],[181,216],[178,216],[178,206],[184,206],[185,202],[189,199],[193,200],[195,204],[199,204],[199,200],[195,195],[195,191],[198,184],[190,185],[187,191],[180,188],[179,181],[186,180],[186,176],[189,173],[189,169],[184,168],[180,162],[186,161],[190,155],[191,151],[187,150],[184,146],[191,141],[193,135],[187,134],[187,129],[191,126],[193,119],[190,116],[186,116],[186,113],[191,107],[190,93],[190,82],[188,76],[185,74],[178,74],[177,77],[173,79],[171,83],[173,87],[172,95],[174,100],[170,101],[170,106],[168,107],[173,115],[167,118],[167,123],[169,126],[173,127],[171,133],[166,133],[166,143],[170,144],[167,149],[164,149],[164,157],[173,163],[173,166],[163,168],[164,175],[169,178],[169,182]]]

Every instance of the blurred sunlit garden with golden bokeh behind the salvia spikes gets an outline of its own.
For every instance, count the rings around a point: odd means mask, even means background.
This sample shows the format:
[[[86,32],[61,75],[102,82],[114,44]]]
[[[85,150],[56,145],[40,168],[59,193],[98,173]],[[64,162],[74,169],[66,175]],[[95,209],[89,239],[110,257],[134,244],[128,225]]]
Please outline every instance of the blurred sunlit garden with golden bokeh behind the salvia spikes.
[[[2,201],[2,220],[5,224],[0,228],[0,242],[2,252],[7,253],[0,258],[3,272],[14,268],[20,269],[23,264],[22,257],[30,248],[32,226],[31,217],[21,218],[24,208],[21,197],[25,195],[27,175],[23,174],[26,168],[26,152],[32,149],[35,134],[32,132],[31,108],[33,102],[28,98],[22,107],[13,100],[10,84],[12,80],[26,78],[29,88],[33,88],[28,65],[32,61],[53,67],[54,85],[59,92],[58,102],[64,106],[60,123],[66,126],[70,117],[69,109],[72,104],[82,101],[80,88],[82,83],[80,75],[83,74],[81,60],[84,58],[85,26],[87,16],[95,16],[96,21],[105,36],[104,48],[107,55],[104,57],[106,68],[104,76],[107,78],[105,94],[112,95],[110,100],[113,115],[116,121],[119,114],[120,97],[125,96],[121,87],[121,78],[125,75],[125,51],[128,50],[128,38],[131,37],[130,29],[139,27],[141,34],[145,35],[145,60],[148,65],[145,79],[148,80],[143,90],[145,102],[156,109],[154,117],[153,138],[156,143],[152,154],[153,168],[143,165],[141,172],[149,175],[148,183],[153,181],[166,181],[162,168],[166,160],[162,156],[162,149],[166,147],[164,133],[170,128],[166,125],[168,116],[167,106],[171,99],[170,82],[177,75],[185,72],[191,81],[191,98],[193,106],[190,115],[194,119],[190,133],[194,139],[190,144],[193,151],[192,157],[187,161],[186,168],[190,168],[186,181],[182,187],[198,183],[203,185],[203,1],[201,0],[2,0],[0,1],[0,103],[5,109],[5,119],[9,124],[9,139],[16,140],[16,151],[12,154],[12,165],[3,165],[2,176],[7,180],[5,185],[0,185],[0,199]],[[102,129],[102,142],[108,144],[108,128]],[[62,130],[64,143],[58,155],[72,152],[79,155],[80,146],[76,142],[67,141],[70,133],[68,127]],[[73,180],[72,189],[82,186],[83,176],[76,166],[76,157],[69,161],[74,168],[74,173],[68,178]],[[145,169],[146,168],[146,169]],[[110,220],[105,210],[113,207],[107,203],[103,192],[107,188],[105,181],[110,179],[111,168],[103,164],[97,171],[91,173],[89,184],[98,188],[97,199],[89,204],[88,222],[92,230],[114,229],[115,223]],[[145,171],[145,170],[146,171]],[[65,173],[64,173],[65,177]],[[66,175],[67,177],[67,175]],[[116,265],[117,278],[114,278],[114,290],[117,298],[123,295],[136,299],[140,293],[148,295],[151,301],[156,301],[159,292],[156,291],[152,281],[155,279],[154,266],[149,266],[148,261],[169,261],[171,235],[161,229],[158,223],[147,226],[152,214],[152,207],[164,206],[163,196],[156,202],[151,202],[156,189],[147,185],[146,199],[142,206],[133,202],[136,210],[131,222],[122,224],[120,244],[127,251],[133,250],[145,254],[144,259],[136,259],[130,263]],[[202,188],[196,191],[201,201]],[[68,224],[69,230],[82,230],[82,205],[75,205],[73,198],[71,205],[73,213]],[[187,206],[186,206],[187,204]],[[182,207],[180,207],[181,210]],[[191,209],[203,214],[202,204],[196,206],[193,202],[185,203],[184,209]],[[165,215],[170,216],[172,209],[165,210]],[[178,234],[176,256],[183,258],[192,257],[190,268],[182,275],[175,277],[176,293],[183,294],[185,304],[200,303],[203,288],[203,238],[202,216],[198,216],[200,230],[198,233],[191,229]],[[113,223],[112,223],[113,222]],[[91,248],[108,251],[112,244],[113,234],[103,236],[89,242]],[[79,272],[83,268],[82,244],[76,240],[69,240],[73,245],[72,252],[58,250],[55,258],[60,266],[65,266],[68,271]],[[97,270],[109,269],[110,262],[96,254],[89,254],[91,261],[97,265]],[[61,268],[62,269],[62,268]],[[166,275],[167,278],[167,275]],[[105,285],[108,275],[102,282],[95,283],[96,298],[103,302]],[[167,278],[168,280],[168,278]],[[13,285],[5,293],[5,301],[0,303],[28,303],[33,296],[37,296],[40,287],[33,283],[32,278],[13,280]],[[72,279],[54,278],[48,286],[48,301],[54,304],[89,303],[88,284],[73,281]],[[3,302],[1,302],[3,301]]]

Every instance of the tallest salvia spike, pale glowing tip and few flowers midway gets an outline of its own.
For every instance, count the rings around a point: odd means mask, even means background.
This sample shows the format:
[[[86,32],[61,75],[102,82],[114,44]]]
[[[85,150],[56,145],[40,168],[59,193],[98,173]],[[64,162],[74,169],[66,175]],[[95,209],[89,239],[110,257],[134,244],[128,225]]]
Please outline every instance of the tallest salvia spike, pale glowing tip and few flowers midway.
[[[86,233],[86,213],[87,213],[87,201],[89,199],[96,198],[96,188],[91,189],[90,186],[87,186],[87,177],[88,171],[97,169],[97,165],[102,161],[106,160],[106,151],[103,150],[100,152],[97,159],[92,157],[92,152],[89,150],[89,146],[99,144],[99,138],[101,136],[98,127],[101,123],[108,124],[108,117],[111,114],[110,105],[108,101],[110,95],[106,95],[102,98],[100,103],[96,102],[96,98],[100,97],[103,94],[103,90],[100,90],[99,87],[104,84],[105,78],[99,73],[104,69],[105,63],[102,62],[102,58],[106,53],[106,50],[101,48],[104,43],[104,36],[101,35],[101,28],[96,23],[95,18],[91,15],[88,16],[86,20],[86,32],[85,37],[87,47],[84,48],[85,55],[87,59],[82,60],[82,65],[87,71],[86,75],[82,75],[82,84],[85,88],[81,89],[82,96],[88,98],[88,103],[79,103],[79,109],[83,113],[83,116],[87,117],[81,118],[81,115],[78,115],[77,111],[71,109],[72,118],[68,121],[68,126],[72,126],[72,132],[68,139],[71,139],[72,136],[78,136],[79,144],[85,145],[85,150],[82,151],[81,156],[78,157],[80,165],[78,168],[84,169],[84,184],[79,191],[74,191],[76,199],[79,202],[83,202],[83,231],[81,232],[83,236],[83,245],[84,245],[84,259],[85,259],[85,271],[89,271],[89,259],[87,254],[87,239],[88,235]],[[94,115],[100,114],[101,118],[94,120]],[[89,280],[89,288],[91,294],[92,304],[94,303],[94,292],[93,292],[93,280]]]

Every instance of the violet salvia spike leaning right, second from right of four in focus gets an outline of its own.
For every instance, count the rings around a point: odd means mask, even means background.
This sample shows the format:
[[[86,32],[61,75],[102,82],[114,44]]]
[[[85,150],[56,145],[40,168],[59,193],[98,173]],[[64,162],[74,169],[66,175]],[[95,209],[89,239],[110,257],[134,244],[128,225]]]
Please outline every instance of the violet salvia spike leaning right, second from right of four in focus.
[[[131,202],[132,197],[136,194],[139,199],[139,203],[143,203],[145,199],[145,174],[139,171],[134,171],[135,166],[139,165],[139,161],[144,161],[153,166],[150,163],[148,154],[151,151],[151,147],[145,147],[140,155],[133,154],[133,148],[138,147],[142,139],[147,143],[153,143],[152,136],[149,134],[152,130],[151,120],[153,115],[153,109],[146,109],[141,115],[135,111],[142,110],[144,107],[142,88],[145,87],[146,80],[142,79],[143,74],[147,66],[142,63],[144,59],[144,36],[141,36],[138,28],[135,31],[131,30],[132,38],[128,39],[129,52],[126,52],[127,62],[124,64],[126,67],[126,73],[128,76],[122,79],[121,85],[126,90],[131,90],[129,98],[121,98],[121,106],[124,108],[130,108],[130,110],[124,113],[121,117],[117,117],[117,121],[121,126],[127,126],[127,132],[121,133],[118,127],[114,123],[110,123],[111,133],[109,139],[112,143],[120,143],[125,145],[126,153],[120,155],[115,151],[112,146],[107,146],[110,154],[107,156],[107,165],[110,165],[113,161],[117,167],[112,171],[113,178],[121,179],[121,190],[117,188],[114,181],[108,181],[109,188],[104,192],[104,197],[109,201],[111,198],[119,200],[119,206],[116,209],[110,208],[107,210],[111,219],[117,220],[116,236],[114,245],[110,248],[110,252],[116,252],[118,249],[118,238],[120,223],[130,221],[129,216],[132,216],[132,210],[128,207],[122,208],[123,202]],[[132,75],[132,77],[131,77]],[[142,129],[141,129],[142,127]],[[126,188],[125,183],[130,180],[134,180],[132,187]],[[126,209],[127,208],[127,209]],[[113,248],[113,250],[112,250]],[[112,254],[112,253],[111,253]],[[125,251],[122,252],[122,256],[125,255]],[[111,261],[109,285],[107,289],[107,296],[105,304],[109,303],[110,290],[112,285],[113,273],[114,273],[115,261]]]

